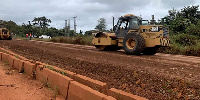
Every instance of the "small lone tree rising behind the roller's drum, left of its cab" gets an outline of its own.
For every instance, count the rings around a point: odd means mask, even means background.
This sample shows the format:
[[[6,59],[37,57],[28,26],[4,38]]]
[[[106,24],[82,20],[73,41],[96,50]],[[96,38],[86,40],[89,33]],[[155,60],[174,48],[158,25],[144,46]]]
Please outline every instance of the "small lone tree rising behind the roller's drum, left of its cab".
[[[95,29],[98,29],[99,31],[105,31],[106,30],[106,19],[100,18],[98,20],[98,25],[95,27]]]

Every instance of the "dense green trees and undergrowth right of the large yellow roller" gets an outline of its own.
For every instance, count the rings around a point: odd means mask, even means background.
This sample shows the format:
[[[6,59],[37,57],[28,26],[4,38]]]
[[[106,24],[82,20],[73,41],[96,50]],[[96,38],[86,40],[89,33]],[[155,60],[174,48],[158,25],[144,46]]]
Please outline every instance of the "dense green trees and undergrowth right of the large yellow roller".
[[[159,52],[200,56],[199,6],[184,7],[180,11],[169,10],[160,24],[169,26],[171,47]]]

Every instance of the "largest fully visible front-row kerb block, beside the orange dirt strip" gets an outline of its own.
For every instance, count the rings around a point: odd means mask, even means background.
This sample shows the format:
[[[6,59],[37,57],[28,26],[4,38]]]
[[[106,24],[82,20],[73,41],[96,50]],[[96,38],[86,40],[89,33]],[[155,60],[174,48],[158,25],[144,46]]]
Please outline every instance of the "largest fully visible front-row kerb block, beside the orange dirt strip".
[[[36,67],[36,79],[43,82],[45,86],[57,90],[64,97],[67,97],[70,81],[73,80],[60,73],[44,68],[42,65]]]

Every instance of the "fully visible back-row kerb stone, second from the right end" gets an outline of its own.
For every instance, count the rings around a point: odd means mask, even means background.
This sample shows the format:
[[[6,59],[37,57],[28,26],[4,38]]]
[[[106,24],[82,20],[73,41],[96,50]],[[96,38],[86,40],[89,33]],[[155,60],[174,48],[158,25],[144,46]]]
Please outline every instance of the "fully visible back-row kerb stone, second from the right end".
[[[73,79],[77,82],[80,82],[81,84],[89,86],[90,88],[102,93],[106,93],[108,90],[107,83],[103,83],[101,81],[94,80],[80,74],[75,75]]]

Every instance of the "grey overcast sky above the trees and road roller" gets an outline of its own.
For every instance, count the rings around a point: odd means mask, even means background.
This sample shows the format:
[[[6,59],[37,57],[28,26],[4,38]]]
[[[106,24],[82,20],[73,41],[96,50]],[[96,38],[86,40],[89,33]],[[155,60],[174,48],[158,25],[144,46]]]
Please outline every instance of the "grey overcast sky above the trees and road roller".
[[[77,16],[77,32],[92,30],[98,19],[104,17],[107,29],[112,27],[112,16],[125,14],[142,15],[143,19],[162,18],[168,10],[180,10],[184,6],[199,5],[199,0],[0,0],[0,20],[12,20],[17,24],[28,23],[34,17],[46,16],[52,20],[51,27],[63,28]],[[115,21],[115,22],[116,22]]]

